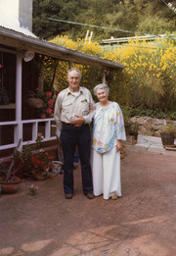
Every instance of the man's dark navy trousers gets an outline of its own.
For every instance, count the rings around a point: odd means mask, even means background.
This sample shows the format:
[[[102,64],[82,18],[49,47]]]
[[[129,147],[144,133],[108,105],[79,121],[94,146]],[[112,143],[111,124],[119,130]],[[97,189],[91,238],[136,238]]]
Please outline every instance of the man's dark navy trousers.
[[[82,187],[84,194],[93,192],[92,171],[90,166],[90,128],[83,125],[80,128],[63,124],[61,140],[64,153],[64,189],[66,194],[74,192],[73,158],[77,145],[81,162]]]

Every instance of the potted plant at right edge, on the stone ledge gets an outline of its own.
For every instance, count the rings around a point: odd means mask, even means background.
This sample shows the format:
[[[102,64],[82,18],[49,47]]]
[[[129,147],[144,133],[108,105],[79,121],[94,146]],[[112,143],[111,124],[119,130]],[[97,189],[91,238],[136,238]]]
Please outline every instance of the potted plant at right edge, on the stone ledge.
[[[163,126],[161,128],[160,137],[164,147],[174,145],[175,133],[176,126],[174,126],[173,124],[167,124],[166,126]]]

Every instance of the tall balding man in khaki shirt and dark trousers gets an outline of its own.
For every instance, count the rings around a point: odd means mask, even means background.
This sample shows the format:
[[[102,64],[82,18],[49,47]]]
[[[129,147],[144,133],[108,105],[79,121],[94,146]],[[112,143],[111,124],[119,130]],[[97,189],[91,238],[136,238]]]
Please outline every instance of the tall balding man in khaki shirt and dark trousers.
[[[92,95],[87,88],[79,86],[81,73],[70,69],[67,74],[68,87],[58,95],[55,105],[55,120],[64,153],[64,190],[66,199],[73,196],[73,158],[77,145],[81,162],[83,193],[94,198],[92,171],[90,166],[90,128],[95,108]]]

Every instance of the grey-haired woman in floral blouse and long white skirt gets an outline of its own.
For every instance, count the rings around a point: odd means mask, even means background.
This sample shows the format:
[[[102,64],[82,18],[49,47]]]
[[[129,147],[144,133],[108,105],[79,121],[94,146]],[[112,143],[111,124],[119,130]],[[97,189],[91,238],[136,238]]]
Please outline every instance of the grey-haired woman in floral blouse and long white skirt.
[[[120,107],[109,100],[109,93],[107,84],[94,88],[99,102],[93,126],[92,173],[94,195],[115,200],[121,196],[120,149],[126,135]]]

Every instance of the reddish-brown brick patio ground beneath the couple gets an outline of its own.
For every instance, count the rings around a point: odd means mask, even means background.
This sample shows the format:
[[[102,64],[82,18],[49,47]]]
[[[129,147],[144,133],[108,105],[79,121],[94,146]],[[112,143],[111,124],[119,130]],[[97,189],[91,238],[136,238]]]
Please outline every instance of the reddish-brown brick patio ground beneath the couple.
[[[0,255],[173,256],[176,251],[176,158],[128,150],[122,196],[89,200],[80,167],[66,200],[63,175],[22,183],[0,197]],[[32,196],[28,185],[38,186]]]

